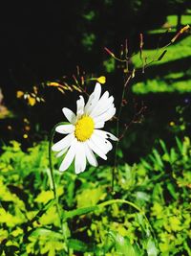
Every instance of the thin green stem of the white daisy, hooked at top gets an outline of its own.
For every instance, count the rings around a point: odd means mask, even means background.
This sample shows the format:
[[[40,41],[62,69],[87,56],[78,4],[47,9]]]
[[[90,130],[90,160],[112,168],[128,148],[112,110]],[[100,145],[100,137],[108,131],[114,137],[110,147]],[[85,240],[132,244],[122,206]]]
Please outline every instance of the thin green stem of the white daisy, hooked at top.
[[[63,234],[63,240],[64,240],[64,243],[65,243],[67,241],[67,237],[66,237],[65,232],[64,232],[63,223],[62,223],[62,215],[61,215],[61,212],[60,212],[60,209],[59,209],[59,200],[58,200],[58,197],[57,197],[57,192],[56,192],[56,187],[55,187],[55,180],[54,180],[54,175],[53,175],[53,159],[52,159],[52,145],[53,145],[53,137],[54,137],[54,134],[55,134],[55,128],[60,126],[60,125],[66,125],[66,123],[58,123],[58,124],[56,124],[53,127],[53,129],[51,131],[51,134],[50,134],[50,140],[49,140],[49,165],[50,165],[50,171],[51,171],[51,175],[50,175],[50,178],[51,178],[51,189],[53,190],[53,198],[55,200],[56,210],[57,210],[58,218],[59,218],[59,221],[60,221],[60,227],[61,227],[61,231],[62,231],[62,234]]]

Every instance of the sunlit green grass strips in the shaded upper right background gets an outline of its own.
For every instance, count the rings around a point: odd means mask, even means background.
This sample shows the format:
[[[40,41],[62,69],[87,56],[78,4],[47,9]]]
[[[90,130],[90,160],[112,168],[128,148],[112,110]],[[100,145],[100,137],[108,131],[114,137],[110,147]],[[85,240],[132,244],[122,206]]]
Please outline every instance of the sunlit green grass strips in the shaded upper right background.
[[[175,26],[175,15],[168,16],[167,20]],[[191,23],[191,16],[183,15],[182,21],[185,24]],[[161,30],[159,29],[158,32],[161,33]],[[156,32],[156,34],[158,33]],[[191,59],[191,36],[181,36],[183,38],[178,38],[174,44],[166,48],[167,52],[160,60],[157,59],[164,49],[143,49],[143,56],[146,58],[146,63],[152,62],[145,71],[149,79],[146,81],[137,81],[133,85],[132,90],[134,93],[191,92],[191,68],[189,65]],[[142,62],[139,55],[133,58],[133,62],[137,69],[141,68]]]

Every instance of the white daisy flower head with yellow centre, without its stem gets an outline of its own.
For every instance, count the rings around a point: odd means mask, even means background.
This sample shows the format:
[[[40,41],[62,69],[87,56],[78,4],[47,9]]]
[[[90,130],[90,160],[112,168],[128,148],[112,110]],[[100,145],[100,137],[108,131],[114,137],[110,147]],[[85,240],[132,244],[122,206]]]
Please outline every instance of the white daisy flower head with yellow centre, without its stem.
[[[101,86],[97,82],[86,105],[84,98],[79,96],[79,100],[76,102],[76,115],[69,108],[62,108],[65,117],[71,124],[60,125],[55,128],[57,132],[67,134],[52,147],[53,151],[58,152],[56,156],[61,156],[67,152],[59,171],[66,171],[73,160],[75,174],[85,171],[87,161],[96,167],[95,153],[106,160],[107,152],[113,148],[108,139],[117,141],[117,137],[112,133],[99,129],[103,128],[105,122],[116,113],[116,107],[113,103],[114,97],[109,97],[108,91],[101,97],[100,95]]]

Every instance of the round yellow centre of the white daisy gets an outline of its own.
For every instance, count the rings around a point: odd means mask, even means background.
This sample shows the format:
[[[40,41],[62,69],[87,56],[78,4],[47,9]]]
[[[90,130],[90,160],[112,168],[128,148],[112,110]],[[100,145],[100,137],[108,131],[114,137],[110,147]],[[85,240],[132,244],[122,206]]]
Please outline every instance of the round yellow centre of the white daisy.
[[[90,139],[94,128],[94,120],[90,116],[82,116],[75,124],[74,135],[78,141],[86,141]]]

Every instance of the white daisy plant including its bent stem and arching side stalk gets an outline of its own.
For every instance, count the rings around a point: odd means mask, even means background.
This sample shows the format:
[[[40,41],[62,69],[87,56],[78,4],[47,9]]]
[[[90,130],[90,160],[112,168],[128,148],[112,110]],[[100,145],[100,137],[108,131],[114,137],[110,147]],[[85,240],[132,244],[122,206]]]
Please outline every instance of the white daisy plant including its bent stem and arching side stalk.
[[[107,205],[116,203],[130,205],[143,215],[145,221],[149,223],[144,213],[135,203],[120,198],[106,200],[91,207],[80,207],[69,212],[60,210],[53,174],[52,151],[57,152],[57,157],[64,155],[64,159],[59,167],[60,172],[67,171],[74,161],[74,173],[79,175],[85,171],[87,162],[94,167],[98,166],[95,153],[102,159],[106,160],[106,154],[113,149],[109,139],[113,141],[118,140],[114,134],[101,129],[104,128],[105,122],[114,117],[116,107],[114,105],[114,97],[109,96],[108,91],[104,92],[101,96],[101,85],[99,82],[96,82],[95,90],[90,95],[86,105],[83,96],[79,96],[79,100],[76,102],[76,114],[67,107],[64,107],[62,111],[69,123],[58,123],[53,127],[49,144],[49,160],[53,196],[57,214],[59,216],[60,228],[63,234],[63,242],[66,244],[65,251],[70,251],[69,244],[67,242],[68,235],[66,230],[68,229],[68,225],[66,221],[69,218],[74,218],[75,216],[98,211]],[[55,132],[64,134],[65,137],[53,144]],[[116,238],[116,234],[114,235],[112,231],[110,233],[113,235],[113,239]],[[128,244],[128,246],[131,247],[131,244]],[[131,249],[134,250],[134,247]]]

